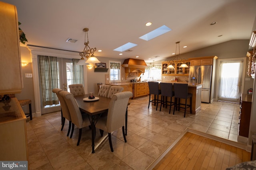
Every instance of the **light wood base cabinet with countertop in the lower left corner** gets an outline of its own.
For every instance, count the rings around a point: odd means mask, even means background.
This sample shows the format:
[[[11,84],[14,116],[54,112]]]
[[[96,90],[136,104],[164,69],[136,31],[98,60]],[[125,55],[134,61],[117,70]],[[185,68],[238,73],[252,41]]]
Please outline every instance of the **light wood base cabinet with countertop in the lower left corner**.
[[[17,98],[0,102],[0,160],[28,160],[26,116]]]

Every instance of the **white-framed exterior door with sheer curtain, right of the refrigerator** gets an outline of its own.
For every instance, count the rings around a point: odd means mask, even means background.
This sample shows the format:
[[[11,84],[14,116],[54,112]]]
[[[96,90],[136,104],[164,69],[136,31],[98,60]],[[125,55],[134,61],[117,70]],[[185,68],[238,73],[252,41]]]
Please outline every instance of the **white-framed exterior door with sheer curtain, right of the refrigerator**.
[[[240,102],[244,58],[219,60],[218,101]]]

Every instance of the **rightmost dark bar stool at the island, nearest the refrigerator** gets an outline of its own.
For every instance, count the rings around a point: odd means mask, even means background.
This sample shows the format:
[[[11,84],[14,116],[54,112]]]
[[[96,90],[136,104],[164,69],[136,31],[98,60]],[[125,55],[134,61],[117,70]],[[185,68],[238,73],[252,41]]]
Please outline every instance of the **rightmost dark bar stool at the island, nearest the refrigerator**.
[[[175,95],[175,105],[177,109],[177,98],[178,98],[178,111],[180,111],[180,108],[185,109],[184,111],[184,117],[186,116],[186,108],[190,107],[190,114],[192,113],[192,94],[188,93],[188,84],[180,84],[180,83],[174,83],[174,95]],[[190,98],[190,105],[187,105],[187,99]],[[180,99],[185,99],[185,104],[180,103]],[[184,105],[185,107],[180,107],[180,105]],[[173,111],[174,114],[174,111]]]

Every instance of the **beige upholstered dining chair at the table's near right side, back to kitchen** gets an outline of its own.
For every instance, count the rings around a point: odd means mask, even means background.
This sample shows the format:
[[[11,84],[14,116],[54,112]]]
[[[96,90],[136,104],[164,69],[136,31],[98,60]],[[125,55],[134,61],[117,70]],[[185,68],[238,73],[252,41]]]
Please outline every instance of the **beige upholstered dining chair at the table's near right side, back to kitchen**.
[[[111,152],[114,152],[111,140],[111,132],[122,127],[124,142],[126,142],[124,132],[125,114],[128,101],[131,96],[132,92],[120,92],[114,94],[108,106],[108,115],[105,117],[100,117],[95,124],[96,128],[108,132],[108,141]],[[101,135],[103,136],[103,133]]]

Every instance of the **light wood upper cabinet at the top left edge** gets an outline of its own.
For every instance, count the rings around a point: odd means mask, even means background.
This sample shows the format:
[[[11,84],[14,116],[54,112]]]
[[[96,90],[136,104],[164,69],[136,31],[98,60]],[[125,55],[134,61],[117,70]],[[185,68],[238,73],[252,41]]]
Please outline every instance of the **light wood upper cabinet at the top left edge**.
[[[20,93],[23,83],[16,7],[0,2],[0,21],[0,94]]]

